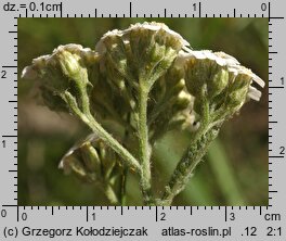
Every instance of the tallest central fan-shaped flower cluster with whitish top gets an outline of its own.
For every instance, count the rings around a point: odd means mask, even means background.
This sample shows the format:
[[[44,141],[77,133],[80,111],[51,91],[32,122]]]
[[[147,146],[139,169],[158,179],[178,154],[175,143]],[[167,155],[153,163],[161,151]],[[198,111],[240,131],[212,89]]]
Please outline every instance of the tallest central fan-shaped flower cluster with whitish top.
[[[166,25],[143,23],[108,31],[96,45],[96,50],[105,55],[107,65],[131,81],[130,86],[138,83],[151,89],[186,46],[188,43]]]

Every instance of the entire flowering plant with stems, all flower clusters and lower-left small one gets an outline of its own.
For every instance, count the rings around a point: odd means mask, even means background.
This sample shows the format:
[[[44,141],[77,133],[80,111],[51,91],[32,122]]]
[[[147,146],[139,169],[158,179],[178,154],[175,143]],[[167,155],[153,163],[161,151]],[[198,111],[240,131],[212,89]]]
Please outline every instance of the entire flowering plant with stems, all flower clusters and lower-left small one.
[[[110,204],[122,205],[126,170],[140,179],[144,205],[170,205],[218,136],[222,124],[261,92],[264,83],[223,52],[195,51],[164,24],[143,23],[106,33],[95,50],[56,48],[23,71],[47,106],[68,112],[92,130],[60,162],[65,173],[96,183]],[[104,127],[104,120],[123,131]],[[167,131],[192,141],[160,196],[152,187],[152,150]],[[119,191],[118,191],[119,190]]]

